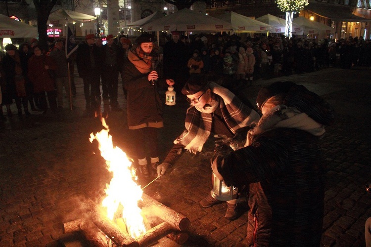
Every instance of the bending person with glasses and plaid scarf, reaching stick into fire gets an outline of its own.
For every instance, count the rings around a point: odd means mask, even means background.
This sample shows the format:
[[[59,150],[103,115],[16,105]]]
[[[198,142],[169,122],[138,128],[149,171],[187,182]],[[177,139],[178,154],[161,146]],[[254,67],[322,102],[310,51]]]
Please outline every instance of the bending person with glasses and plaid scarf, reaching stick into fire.
[[[164,175],[175,164],[182,148],[196,154],[202,151],[211,133],[232,138],[238,129],[257,124],[260,118],[257,112],[244,105],[231,91],[210,82],[204,74],[192,74],[182,93],[190,103],[185,117],[185,130],[175,139],[175,145],[164,162],[157,166],[158,176]],[[217,203],[219,201],[210,194],[200,202],[202,207]],[[227,202],[227,219],[236,218],[235,206],[235,200]]]

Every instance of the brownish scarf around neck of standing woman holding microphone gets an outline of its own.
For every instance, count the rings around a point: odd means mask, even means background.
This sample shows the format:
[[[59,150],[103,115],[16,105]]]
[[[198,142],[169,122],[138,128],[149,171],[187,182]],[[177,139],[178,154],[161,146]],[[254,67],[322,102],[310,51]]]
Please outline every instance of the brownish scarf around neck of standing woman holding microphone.
[[[133,46],[128,53],[129,61],[135,65],[135,67],[142,74],[149,73],[152,69],[152,62],[160,60],[160,54],[156,54],[157,48],[153,48],[151,54],[145,53],[140,49],[140,45]]]

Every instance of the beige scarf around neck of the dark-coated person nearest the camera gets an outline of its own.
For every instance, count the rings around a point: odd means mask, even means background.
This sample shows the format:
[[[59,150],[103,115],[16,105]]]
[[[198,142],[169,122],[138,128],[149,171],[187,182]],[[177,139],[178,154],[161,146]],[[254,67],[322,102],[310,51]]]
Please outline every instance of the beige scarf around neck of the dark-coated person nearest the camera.
[[[278,105],[266,113],[259,123],[247,133],[246,146],[252,144],[254,136],[275,128],[295,128],[307,131],[314,136],[322,136],[325,126],[310,118],[295,107]]]

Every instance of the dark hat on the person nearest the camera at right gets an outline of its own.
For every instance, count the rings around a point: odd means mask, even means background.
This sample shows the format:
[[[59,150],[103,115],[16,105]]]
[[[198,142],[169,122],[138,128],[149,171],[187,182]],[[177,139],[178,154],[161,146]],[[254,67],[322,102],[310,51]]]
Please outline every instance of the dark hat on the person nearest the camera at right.
[[[262,87],[256,97],[256,106],[261,110],[268,99],[280,93],[287,93],[293,86],[296,86],[294,82],[273,82],[269,86]]]

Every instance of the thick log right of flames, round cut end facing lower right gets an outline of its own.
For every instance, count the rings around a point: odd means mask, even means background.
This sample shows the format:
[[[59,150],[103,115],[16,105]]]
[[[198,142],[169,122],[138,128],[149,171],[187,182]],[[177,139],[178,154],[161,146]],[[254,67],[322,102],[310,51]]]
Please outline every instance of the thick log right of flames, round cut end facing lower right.
[[[188,229],[190,221],[187,217],[185,217],[185,215],[178,213],[170,207],[159,203],[145,193],[142,194],[141,198],[143,199],[143,201],[139,202],[140,207],[151,207],[151,209],[153,208],[154,210],[152,210],[151,213],[168,222],[170,225],[174,226],[180,231],[185,231],[186,229]]]

